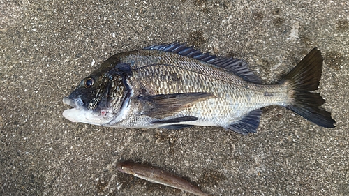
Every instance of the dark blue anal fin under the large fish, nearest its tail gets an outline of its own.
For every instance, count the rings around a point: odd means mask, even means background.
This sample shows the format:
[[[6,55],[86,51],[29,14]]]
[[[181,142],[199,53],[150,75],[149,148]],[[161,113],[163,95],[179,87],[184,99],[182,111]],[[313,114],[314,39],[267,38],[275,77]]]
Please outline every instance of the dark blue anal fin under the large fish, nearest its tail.
[[[237,121],[236,123],[231,123],[228,125],[228,130],[234,130],[242,135],[247,135],[248,133],[256,133],[257,128],[260,124],[260,116],[262,115],[262,110],[257,109],[248,112],[244,118]]]

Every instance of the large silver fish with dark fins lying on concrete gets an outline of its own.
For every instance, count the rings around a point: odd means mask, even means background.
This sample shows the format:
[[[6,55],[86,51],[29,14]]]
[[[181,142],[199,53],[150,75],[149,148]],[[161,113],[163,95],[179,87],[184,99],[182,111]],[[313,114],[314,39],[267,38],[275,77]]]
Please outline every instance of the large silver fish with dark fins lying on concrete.
[[[322,54],[316,47],[279,82],[262,84],[243,59],[202,53],[186,43],[114,54],[81,80],[63,102],[72,121],[115,128],[221,126],[256,133],[262,107],[280,105],[334,128],[318,90]]]

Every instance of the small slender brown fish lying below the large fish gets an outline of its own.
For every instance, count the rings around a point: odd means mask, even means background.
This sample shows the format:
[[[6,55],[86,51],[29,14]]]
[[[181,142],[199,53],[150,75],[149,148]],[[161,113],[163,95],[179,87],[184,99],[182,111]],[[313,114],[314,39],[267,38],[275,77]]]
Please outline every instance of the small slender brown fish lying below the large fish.
[[[158,167],[142,165],[129,161],[117,163],[117,170],[126,174],[131,174],[140,179],[151,181],[152,183],[160,183],[199,196],[208,196],[209,194],[202,192],[200,188],[193,186],[185,179],[176,176],[170,172],[166,172]]]

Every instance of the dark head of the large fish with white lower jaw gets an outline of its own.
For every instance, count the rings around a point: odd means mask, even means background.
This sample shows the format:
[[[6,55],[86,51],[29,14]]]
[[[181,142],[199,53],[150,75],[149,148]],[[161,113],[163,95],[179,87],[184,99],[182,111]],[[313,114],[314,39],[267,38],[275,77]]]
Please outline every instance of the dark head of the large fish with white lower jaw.
[[[131,69],[127,69],[124,65],[101,67],[82,79],[75,91],[63,98],[63,103],[73,107],[63,116],[73,122],[101,126],[122,119],[131,97],[126,83]]]

